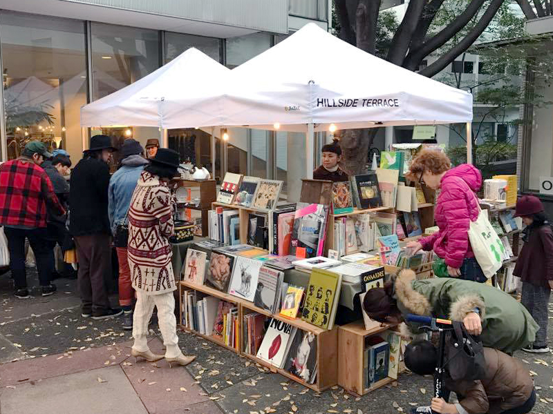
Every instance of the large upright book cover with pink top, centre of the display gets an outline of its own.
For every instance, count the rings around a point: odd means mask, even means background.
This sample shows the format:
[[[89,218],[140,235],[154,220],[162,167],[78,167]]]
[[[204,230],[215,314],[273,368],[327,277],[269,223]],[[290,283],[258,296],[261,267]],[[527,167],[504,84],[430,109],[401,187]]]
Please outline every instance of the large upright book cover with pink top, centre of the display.
[[[296,249],[306,248],[306,257],[322,256],[326,234],[328,206],[322,204],[298,203],[292,228],[290,254],[296,255]]]

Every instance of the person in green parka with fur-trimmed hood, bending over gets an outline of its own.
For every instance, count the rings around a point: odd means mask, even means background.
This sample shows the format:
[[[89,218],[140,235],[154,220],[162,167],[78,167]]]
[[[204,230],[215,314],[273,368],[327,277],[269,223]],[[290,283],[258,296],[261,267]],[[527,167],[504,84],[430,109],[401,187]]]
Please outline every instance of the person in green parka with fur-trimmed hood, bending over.
[[[509,354],[532,344],[539,328],[522,304],[498,288],[453,278],[415,280],[409,269],[369,290],[363,307],[378,322],[401,322],[408,313],[462,321],[484,346]],[[402,324],[402,333],[420,332],[416,324]]]

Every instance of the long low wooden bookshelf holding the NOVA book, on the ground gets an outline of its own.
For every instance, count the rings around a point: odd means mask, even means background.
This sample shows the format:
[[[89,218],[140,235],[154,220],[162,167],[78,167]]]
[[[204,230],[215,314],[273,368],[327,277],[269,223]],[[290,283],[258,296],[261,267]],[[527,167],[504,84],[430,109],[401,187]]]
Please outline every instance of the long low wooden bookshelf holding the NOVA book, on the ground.
[[[181,302],[180,308],[179,308],[180,327],[182,328],[183,331],[194,333],[199,337],[202,337],[211,342],[214,342],[214,344],[223,346],[224,348],[227,348],[230,351],[236,352],[239,355],[243,355],[244,357],[252,359],[252,361],[254,361],[256,364],[260,364],[261,366],[265,366],[269,368],[270,371],[272,371],[273,373],[279,373],[285,377],[290,378],[290,380],[294,380],[295,382],[298,382],[303,386],[311,388],[314,391],[317,391],[317,392],[324,391],[338,384],[338,328],[336,326],[332,328],[330,331],[328,331],[326,329],[319,328],[319,326],[309,324],[308,322],[305,322],[300,318],[288,319],[278,314],[272,314],[268,311],[265,311],[264,309],[258,308],[252,302],[249,302],[245,299],[241,299],[233,295],[229,295],[228,293],[223,293],[219,290],[210,288],[209,286],[205,286],[205,285],[192,284],[186,281],[182,281],[180,282],[179,290],[180,290],[179,297]],[[224,300],[225,302],[236,304],[236,306],[238,307],[238,331],[240,332],[239,334],[240,343],[238,346],[239,349],[236,349],[232,346],[228,346],[220,338],[214,335],[204,335],[195,331],[194,329],[186,328],[184,326],[184,324],[182,323],[182,311],[181,311],[182,310],[182,290],[197,290],[198,292],[216,297],[218,299]],[[308,384],[307,382],[301,380],[301,378],[296,377],[295,375],[292,375],[292,373],[289,373],[288,371],[285,371],[283,368],[278,368],[277,366],[274,366],[269,362],[264,361],[263,359],[259,359],[258,357],[256,357],[256,355],[252,355],[250,353],[245,352],[244,340],[243,340],[244,338],[242,337],[243,324],[244,324],[244,317],[250,313],[260,313],[261,315],[265,315],[268,318],[272,317],[279,321],[286,322],[287,324],[290,324],[300,329],[301,331],[308,331],[315,334],[317,338],[318,373],[317,373],[317,380],[315,381],[314,384]]]

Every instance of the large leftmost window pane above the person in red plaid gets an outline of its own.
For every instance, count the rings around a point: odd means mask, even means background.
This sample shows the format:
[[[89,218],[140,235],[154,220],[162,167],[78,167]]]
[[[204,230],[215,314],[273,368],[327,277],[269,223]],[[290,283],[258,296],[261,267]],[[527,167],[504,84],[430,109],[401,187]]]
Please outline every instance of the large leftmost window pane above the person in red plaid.
[[[1,12],[7,159],[26,141],[82,152],[80,108],[86,104],[84,23]]]

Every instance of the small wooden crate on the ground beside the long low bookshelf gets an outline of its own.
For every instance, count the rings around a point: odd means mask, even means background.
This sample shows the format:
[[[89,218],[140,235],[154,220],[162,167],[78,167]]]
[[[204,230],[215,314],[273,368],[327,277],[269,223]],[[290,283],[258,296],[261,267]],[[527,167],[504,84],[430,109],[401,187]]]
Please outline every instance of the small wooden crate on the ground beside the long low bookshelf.
[[[394,380],[386,377],[373,384],[370,388],[365,388],[363,378],[363,359],[365,338],[378,335],[395,325],[382,324],[371,331],[365,330],[363,321],[352,322],[338,329],[338,385],[349,393],[360,397],[370,393],[381,386],[389,384]],[[398,362],[399,363],[399,362]]]

